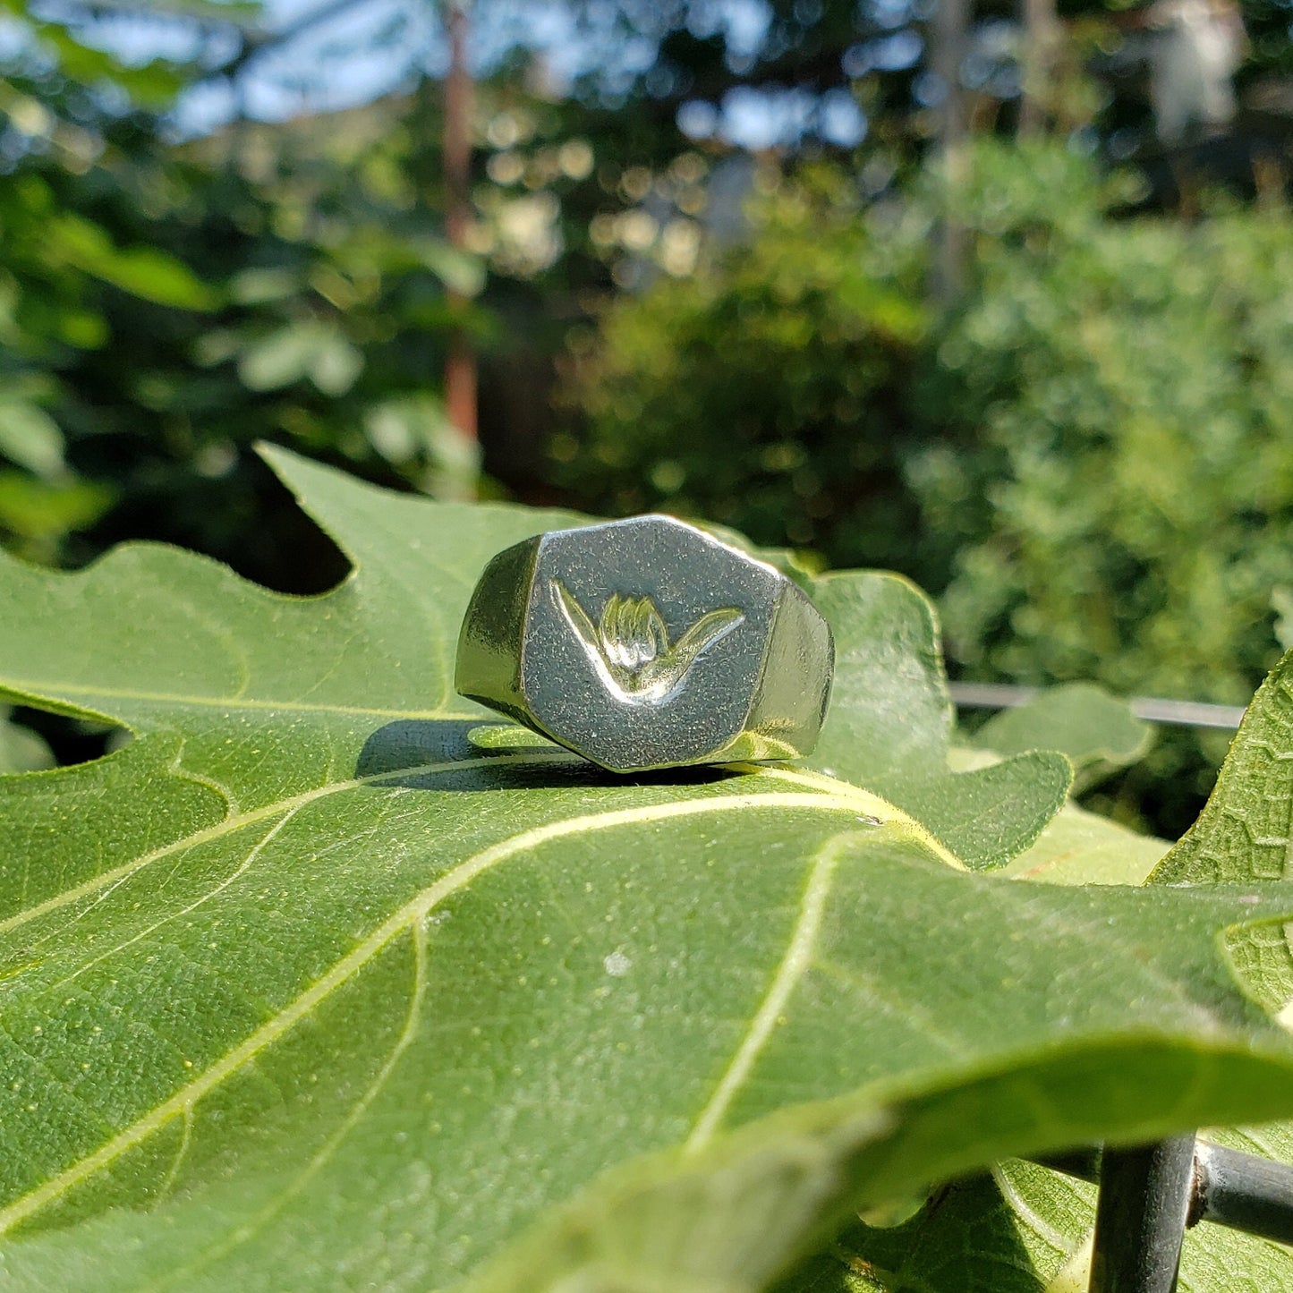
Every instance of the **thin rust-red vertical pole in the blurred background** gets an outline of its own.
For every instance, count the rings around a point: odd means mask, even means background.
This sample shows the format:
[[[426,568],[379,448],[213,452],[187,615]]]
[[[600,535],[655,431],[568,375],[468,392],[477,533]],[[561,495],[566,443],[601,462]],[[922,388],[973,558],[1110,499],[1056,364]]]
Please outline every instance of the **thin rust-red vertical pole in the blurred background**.
[[[467,67],[467,6],[469,0],[443,0],[449,34],[449,75],[445,78],[445,231],[451,247],[463,250],[471,228],[472,76]],[[462,309],[462,296],[450,292]],[[455,328],[445,361],[445,410],[449,420],[476,440],[476,352],[464,328]]]

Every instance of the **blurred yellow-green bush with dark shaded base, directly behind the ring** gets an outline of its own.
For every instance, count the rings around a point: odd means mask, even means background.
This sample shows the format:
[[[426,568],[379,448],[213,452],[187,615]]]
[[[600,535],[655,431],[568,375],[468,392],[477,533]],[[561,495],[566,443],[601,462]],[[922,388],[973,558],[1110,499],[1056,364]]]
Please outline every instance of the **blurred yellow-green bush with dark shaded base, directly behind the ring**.
[[[927,328],[928,225],[877,238],[856,187],[826,167],[759,184],[755,237],[575,335],[569,398],[587,436],[555,437],[555,477],[596,509],[665,508],[905,568],[917,515],[896,475],[896,379]]]

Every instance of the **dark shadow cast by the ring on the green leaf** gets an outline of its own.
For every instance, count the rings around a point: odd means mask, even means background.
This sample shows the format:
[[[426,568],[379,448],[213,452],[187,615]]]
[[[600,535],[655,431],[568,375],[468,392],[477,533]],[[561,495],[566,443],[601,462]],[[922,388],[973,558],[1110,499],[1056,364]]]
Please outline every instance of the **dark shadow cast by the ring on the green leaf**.
[[[490,721],[485,718],[397,719],[379,727],[363,742],[354,775],[374,786],[441,791],[694,786],[747,776],[718,765],[622,775],[599,768],[559,746],[486,747],[468,740],[469,732],[486,727]],[[499,724],[500,731],[504,727],[511,724]],[[462,768],[455,769],[455,763],[462,763]],[[432,772],[428,764],[437,767]]]

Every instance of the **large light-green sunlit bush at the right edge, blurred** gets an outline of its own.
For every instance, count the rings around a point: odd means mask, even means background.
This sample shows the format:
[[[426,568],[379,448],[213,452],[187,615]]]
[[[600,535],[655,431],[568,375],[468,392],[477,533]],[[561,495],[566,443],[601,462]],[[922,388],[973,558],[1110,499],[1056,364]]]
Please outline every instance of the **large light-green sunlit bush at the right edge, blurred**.
[[[978,282],[924,365],[944,626],[994,674],[1240,702],[1293,575],[1293,221],[1113,221],[1053,180],[981,155]]]

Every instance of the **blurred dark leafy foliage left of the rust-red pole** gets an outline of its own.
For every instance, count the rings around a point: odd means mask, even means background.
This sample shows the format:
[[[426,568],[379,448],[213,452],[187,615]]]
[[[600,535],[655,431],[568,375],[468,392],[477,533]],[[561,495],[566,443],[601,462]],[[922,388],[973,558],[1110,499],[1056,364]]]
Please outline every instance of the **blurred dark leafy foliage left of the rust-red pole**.
[[[0,538],[43,561],[149,535],[273,583],[335,553],[257,438],[388,482],[469,490],[438,398],[478,260],[440,213],[438,107],[250,123],[177,145],[197,67],[131,67],[16,5],[0,65]],[[422,178],[420,178],[422,177]],[[312,556],[313,550],[313,556]],[[283,560],[291,552],[294,561]]]

